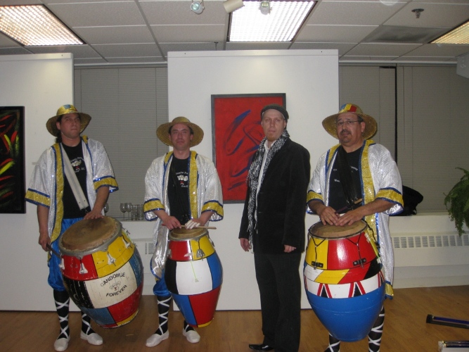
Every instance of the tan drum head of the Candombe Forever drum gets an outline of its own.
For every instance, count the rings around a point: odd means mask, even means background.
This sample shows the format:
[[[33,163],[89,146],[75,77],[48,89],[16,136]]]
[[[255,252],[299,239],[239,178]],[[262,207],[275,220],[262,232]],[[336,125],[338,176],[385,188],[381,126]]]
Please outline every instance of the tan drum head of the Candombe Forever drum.
[[[63,233],[58,246],[61,252],[72,256],[93,253],[107,247],[120,232],[120,222],[115,218],[80,220]]]

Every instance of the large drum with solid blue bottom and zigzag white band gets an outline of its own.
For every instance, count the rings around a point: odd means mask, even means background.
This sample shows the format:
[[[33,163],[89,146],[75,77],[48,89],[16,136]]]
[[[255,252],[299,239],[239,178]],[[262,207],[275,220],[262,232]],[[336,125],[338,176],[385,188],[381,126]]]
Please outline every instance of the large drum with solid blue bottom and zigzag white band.
[[[311,308],[340,341],[366,337],[385,299],[385,278],[366,222],[309,228],[304,288]]]

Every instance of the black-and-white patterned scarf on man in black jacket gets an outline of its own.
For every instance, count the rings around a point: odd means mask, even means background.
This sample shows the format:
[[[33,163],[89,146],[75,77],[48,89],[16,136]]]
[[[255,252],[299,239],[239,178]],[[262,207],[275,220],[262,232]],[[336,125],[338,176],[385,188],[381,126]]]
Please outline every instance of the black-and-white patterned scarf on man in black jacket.
[[[281,135],[281,137],[278,138],[276,142],[271,146],[271,149],[269,149],[269,153],[267,153],[267,156],[266,156],[266,163],[264,165],[264,170],[262,171],[261,184],[264,181],[264,175],[266,173],[267,168],[269,168],[270,161],[272,160],[272,158],[274,158],[275,153],[281,149],[283,144],[285,144],[285,141],[287,140],[288,137],[290,137],[290,134],[288,134],[286,129],[283,130],[283,134]],[[259,172],[262,167],[262,159],[264,159],[265,142],[266,142],[266,137],[264,137],[264,139],[262,139],[261,143],[259,144],[259,149],[257,150],[257,153],[255,153],[254,158],[252,158],[251,167],[248,173],[248,184],[251,189],[249,202],[248,202],[248,217],[249,217],[248,218],[249,220],[248,232],[249,232],[249,242],[251,245],[252,245],[252,234],[254,233],[254,209],[256,206],[257,186],[259,184]]]

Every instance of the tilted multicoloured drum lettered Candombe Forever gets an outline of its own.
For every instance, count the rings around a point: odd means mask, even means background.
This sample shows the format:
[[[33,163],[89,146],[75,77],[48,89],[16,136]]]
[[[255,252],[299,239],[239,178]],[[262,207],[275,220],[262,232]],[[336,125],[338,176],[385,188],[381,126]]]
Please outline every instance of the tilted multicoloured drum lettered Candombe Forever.
[[[80,220],[59,242],[63,283],[72,301],[104,328],[139,312],[143,267],[139,251],[114,218]]]

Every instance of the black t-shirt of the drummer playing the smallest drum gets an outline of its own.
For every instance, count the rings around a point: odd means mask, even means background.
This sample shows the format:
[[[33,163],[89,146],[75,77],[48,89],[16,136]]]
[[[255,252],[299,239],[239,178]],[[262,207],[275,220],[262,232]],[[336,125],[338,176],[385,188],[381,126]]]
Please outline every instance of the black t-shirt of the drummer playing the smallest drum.
[[[168,181],[169,212],[181,224],[191,220],[189,215],[189,158],[173,156]]]

